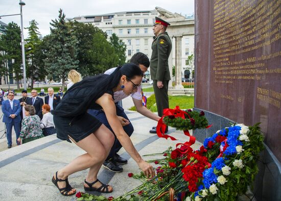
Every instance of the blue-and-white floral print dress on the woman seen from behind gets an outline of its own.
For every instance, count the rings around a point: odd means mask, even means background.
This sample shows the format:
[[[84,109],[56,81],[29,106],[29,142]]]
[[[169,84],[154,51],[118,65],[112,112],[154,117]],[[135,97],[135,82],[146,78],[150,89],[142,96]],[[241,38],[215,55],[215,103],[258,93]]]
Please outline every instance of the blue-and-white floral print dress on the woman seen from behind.
[[[40,128],[40,117],[38,115],[26,116],[22,119],[19,137],[22,138],[22,143],[27,138],[31,138],[28,141],[32,141],[43,137],[42,129]]]

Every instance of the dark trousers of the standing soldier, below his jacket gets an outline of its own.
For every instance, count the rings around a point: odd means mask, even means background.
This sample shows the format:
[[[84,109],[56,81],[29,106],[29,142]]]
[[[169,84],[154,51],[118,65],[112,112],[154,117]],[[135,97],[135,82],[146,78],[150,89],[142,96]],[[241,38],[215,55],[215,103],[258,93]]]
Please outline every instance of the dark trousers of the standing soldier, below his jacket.
[[[158,111],[158,116],[163,116],[163,109],[169,108],[168,85],[169,80],[162,81],[163,87],[157,87],[157,80],[153,81],[153,89],[155,94],[155,101]]]

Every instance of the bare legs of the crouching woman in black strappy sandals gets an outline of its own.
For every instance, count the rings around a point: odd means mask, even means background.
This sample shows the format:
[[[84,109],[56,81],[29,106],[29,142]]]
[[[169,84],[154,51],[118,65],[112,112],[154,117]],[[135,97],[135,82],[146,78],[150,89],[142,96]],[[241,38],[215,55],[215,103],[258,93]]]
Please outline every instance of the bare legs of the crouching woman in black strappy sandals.
[[[96,137],[96,135],[104,137],[100,137],[102,139],[107,139],[107,143],[101,143],[100,140]],[[109,150],[114,142],[114,136],[110,130],[108,130],[105,125],[101,125],[101,127],[95,132],[95,134],[90,134],[86,138],[80,140],[79,142],[75,142],[71,137],[69,137],[77,146],[81,147],[86,154],[83,154],[76,159],[74,159],[71,163],[66,165],[64,168],[58,171],[59,179],[66,179],[68,175],[71,175],[75,172],[90,168],[91,172],[89,178],[87,177],[87,182],[93,182],[97,180],[97,174],[100,170],[100,167],[104,160],[106,159]],[[104,146],[105,144],[105,146]],[[110,148],[109,148],[110,147]],[[55,176],[54,176],[55,177]],[[91,181],[93,179],[93,181]],[[93,187],[101,186],[98,182]],[[59,188],[63,188],[66,186],[65,182],[58,182]],[[108,188],[109,191],[112,190],[112,187]],[[76,190],[72,189],[72,191],[68,192],[68,194],[73,194]]]

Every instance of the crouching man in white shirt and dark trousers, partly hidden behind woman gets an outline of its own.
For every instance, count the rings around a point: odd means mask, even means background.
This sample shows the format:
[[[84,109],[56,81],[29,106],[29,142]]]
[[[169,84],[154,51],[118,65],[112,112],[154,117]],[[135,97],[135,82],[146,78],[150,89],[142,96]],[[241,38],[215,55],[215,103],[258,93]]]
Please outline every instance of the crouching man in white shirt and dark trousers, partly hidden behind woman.
[[[132,58],[130,59],[130,62],[138,65],[139,68],[144,73],[147,71],[147,69],[150,65],[149,58],[145,54],[140,53],[140,52],[134,54],[132,56]],[[111,69],[105,71],[105,74],[111,74],[114,70],[115,70],[115,68],[111,68]],[[140,114],[142,114],[150,119],[158,121],[160,119],[160,117],[158,115],[154,114],[153,112],[151,112],[145,106],[143,106],[143,102],[142,102],[143,97],[142,97],[141,92],[142,92],[142,86],[138,86],[135,89],[134,93],[131,94],[131,97],[133,98],[133,103],[136,107],[137,112],[139,112]],[[119,116],[119,120],[121,121],[121,124],[123,125],[124,131],[130,137],[134,131],[134,128],[133,128],[132,124],[130,123],[129,118],[125,114],[124,109],[118,105],[118,102],[121,101],[123,98],[127,97],[128,95],[126,95],[121,90],[121,91],[116,91],[113,96],[114,96],[114,102],[115,102],[115,106],[116,106],[116,114]],[[91,114],[92,116],[95,116],[96,118],[98,118],[109,130],[112,131],[112,133],[114,133],[106,119],[106,116],[105,116],[105,113],[103,112],[103,110],[88,110],[88,113]],[[110,153],[109,153],[107,159],[105,160],[105,162],[103,163],[103,166],[105,168],[107,168],[113,172],[122,172],[123,171],[123,168],[118,164],[126,164],[127,160],[120,157],[117,154],[121,148],[122,148],[121,143],[115,137],[115,142],[110,150]]]

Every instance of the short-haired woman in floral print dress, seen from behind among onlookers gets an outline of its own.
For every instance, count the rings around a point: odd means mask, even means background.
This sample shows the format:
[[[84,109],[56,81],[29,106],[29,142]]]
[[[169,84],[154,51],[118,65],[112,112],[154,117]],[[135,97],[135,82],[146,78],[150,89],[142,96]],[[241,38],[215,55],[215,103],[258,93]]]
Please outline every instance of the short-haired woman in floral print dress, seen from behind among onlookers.
[[[40,128],[40,117],[35,114],[34,106],[26,105],[25,110],[26,117],[21,121],[21,131],[17,139],[19,144],[44,137]]]

